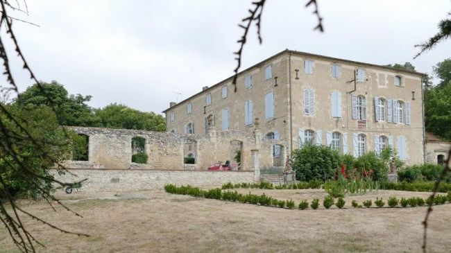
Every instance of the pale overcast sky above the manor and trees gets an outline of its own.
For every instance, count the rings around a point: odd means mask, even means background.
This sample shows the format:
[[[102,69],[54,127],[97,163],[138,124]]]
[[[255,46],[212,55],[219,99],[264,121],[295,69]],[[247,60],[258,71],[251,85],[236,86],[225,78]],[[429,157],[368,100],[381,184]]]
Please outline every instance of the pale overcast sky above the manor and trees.
[[[412,59],[418,51],[414,44],[434,35],[451,11],[450,0],[318,0],[325,33],[313,31],[316,18],[306,2],[266,1],[263,44],[253,28],[244,68],[284,49],[374,64],[411,62],[425,73],[451,57],[448,40]],[[244,0],[26,3],[28,16],[9,14],[40,26],[14,23],[19,45],[40,80],[57,80],[71,94],[92,95],[93,107],[117,102],[158,113],[169,101],[182,101],[232,76],[232,52],[242,32],[237,24],[251,6]],[[12,61],[23,91],[31,80]]]

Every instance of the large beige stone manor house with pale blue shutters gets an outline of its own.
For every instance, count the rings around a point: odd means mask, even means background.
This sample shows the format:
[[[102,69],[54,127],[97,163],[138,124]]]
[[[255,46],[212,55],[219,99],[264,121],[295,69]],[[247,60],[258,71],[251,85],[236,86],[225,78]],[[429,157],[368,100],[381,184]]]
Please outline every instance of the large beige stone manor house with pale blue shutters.
[[[262,141],[273,140],[273,160],[314,143],[355,157],[391,146],[407,164],[423,163],[423,75],[287,49],[238,73],[236,87],[230,77],[171,103],[167,132],[257,127]]]

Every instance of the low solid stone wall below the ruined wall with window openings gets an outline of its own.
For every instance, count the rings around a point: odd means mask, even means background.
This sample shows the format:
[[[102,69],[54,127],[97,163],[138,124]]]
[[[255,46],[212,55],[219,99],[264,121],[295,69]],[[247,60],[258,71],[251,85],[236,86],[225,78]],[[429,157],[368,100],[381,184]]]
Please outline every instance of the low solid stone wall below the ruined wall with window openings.
[[[80,191],[137,191],[163,189],[165,184],[218,187],[227,182],[253,182],[253,171],[155,171],[155,170],[108,170],[71,169],[71,173],[58,175],[56,180],[76,182],[87,178]]]

